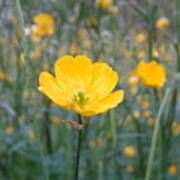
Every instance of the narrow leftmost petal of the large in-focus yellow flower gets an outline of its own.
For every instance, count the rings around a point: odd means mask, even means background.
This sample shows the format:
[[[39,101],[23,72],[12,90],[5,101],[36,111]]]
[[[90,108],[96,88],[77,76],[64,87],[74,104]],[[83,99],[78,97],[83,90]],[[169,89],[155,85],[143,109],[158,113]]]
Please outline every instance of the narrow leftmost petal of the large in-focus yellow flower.
[[[50,73],[42,72],[40,74],[39,85],[39,90],[47,95],[53,102],[62,107],[68,105],[67,96]]]

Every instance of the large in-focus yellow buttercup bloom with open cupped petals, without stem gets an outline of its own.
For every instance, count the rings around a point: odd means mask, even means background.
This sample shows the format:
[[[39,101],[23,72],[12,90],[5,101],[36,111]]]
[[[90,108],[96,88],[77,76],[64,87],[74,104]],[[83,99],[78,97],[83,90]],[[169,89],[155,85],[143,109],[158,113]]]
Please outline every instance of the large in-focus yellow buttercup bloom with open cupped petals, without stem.
[[[112,92],[118,79],[106,63],[92,63],[86,56],[63,56],[55,63],[55,77],[40,74],[39,90],[64,109],[92,116],[122,102],[124,91]]]

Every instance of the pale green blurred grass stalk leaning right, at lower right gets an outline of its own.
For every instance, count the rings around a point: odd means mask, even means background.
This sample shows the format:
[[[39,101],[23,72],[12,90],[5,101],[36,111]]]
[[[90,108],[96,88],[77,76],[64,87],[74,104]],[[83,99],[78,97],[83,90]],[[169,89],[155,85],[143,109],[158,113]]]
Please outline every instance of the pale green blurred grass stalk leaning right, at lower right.
[[[148,165],[147,165],[147,169],[146,169],[145,180],[151,179],[153,160],[154,160],[154,155],[155,155],[155,151],[156,151],[156,144],[157,144],[157,139],[158,139],[159,130],[160,130],[160,120],[161,120],[161,116],[162,116],[164,107],[167,103],[170,91],[171,91],[170,88],[166,89],[164,98],[162,100],[159,111],[157,113],[156,124],[154,127],[154,132],[153,132],[152,141],[151,141],[151,148],[150,148],[150,154],[149,154],[149,158],[148,158]]]

